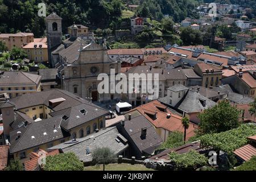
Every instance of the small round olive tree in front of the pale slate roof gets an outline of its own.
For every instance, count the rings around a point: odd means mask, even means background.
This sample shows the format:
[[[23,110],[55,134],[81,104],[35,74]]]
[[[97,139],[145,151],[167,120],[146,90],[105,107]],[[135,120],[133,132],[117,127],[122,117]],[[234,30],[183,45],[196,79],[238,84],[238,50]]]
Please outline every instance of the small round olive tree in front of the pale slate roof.
[[[108,147],[96,148],[92,154],[93,162],[103,164],[103,171],[105,171],[105,165],[113,162],[114,157],[114,153]]]

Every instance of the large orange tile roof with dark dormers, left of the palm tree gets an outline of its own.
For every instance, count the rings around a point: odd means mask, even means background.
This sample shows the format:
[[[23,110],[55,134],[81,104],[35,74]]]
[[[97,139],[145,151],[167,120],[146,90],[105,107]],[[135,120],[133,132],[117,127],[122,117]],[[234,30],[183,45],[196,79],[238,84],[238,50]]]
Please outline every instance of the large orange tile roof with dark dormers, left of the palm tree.
[[[166,109],[166,112],[163,111],[163,109]],[[162,127],[163,129],[171,132],[184,132],[184,127],[181,123],[182,117],[171,113],[171,111],[168,110],[167,107],[161,104],[159,101],[155,100],[149,102],[147,104],[136,107],[133,110],[138,110],[139,113],[144,115],[144,117],[146,117],[148,121],[150,121],[155,127]],[[156,114],[156,119],[151,119],[148,114]],[[171,117],[167,118],[167,114],[171,114]],[[189,123],[189,128],[187,130],[187,139],[195,135],[195,129],[197,129],[197,125]]]

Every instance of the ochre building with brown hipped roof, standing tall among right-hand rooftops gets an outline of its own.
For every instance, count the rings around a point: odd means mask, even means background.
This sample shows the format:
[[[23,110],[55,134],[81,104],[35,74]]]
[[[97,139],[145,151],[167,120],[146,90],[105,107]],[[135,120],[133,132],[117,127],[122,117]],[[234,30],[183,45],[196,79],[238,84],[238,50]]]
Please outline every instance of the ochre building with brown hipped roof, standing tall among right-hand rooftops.
[[[202,85],[205,88],[221,85],[222,71],[220,69],[209,64],[199,63],[195,65],[194,71],[203,77]]]

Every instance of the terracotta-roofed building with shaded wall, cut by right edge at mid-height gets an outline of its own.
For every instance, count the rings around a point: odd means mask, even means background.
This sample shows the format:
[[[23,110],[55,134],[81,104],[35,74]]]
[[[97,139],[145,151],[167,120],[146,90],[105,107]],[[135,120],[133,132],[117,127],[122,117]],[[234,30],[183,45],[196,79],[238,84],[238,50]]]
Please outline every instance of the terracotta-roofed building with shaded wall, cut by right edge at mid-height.
[[[229,84],[240,94],[254,98],[256,96],[256,71],[239,72],[222,78],[223,84]]]

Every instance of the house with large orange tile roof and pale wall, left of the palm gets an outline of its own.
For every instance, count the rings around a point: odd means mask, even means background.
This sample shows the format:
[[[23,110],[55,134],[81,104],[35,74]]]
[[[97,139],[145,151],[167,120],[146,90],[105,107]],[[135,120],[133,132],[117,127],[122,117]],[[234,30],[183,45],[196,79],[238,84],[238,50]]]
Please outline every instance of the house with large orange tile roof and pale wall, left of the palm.
[[[172,111],[169,110],[167,106],[161,104],[157,100],[135,107],[133,111],[134,110],[139,111],[139,113],[144,115],[144,117],[150,121],[150,123],[155,127],[156,133],[162,138],[164,142],[166,142],[169,135],[175,131],[184,133],[182,117],[172,113]],[[186,140],[195,135],[196,129],[197,125],[189,123]]]

